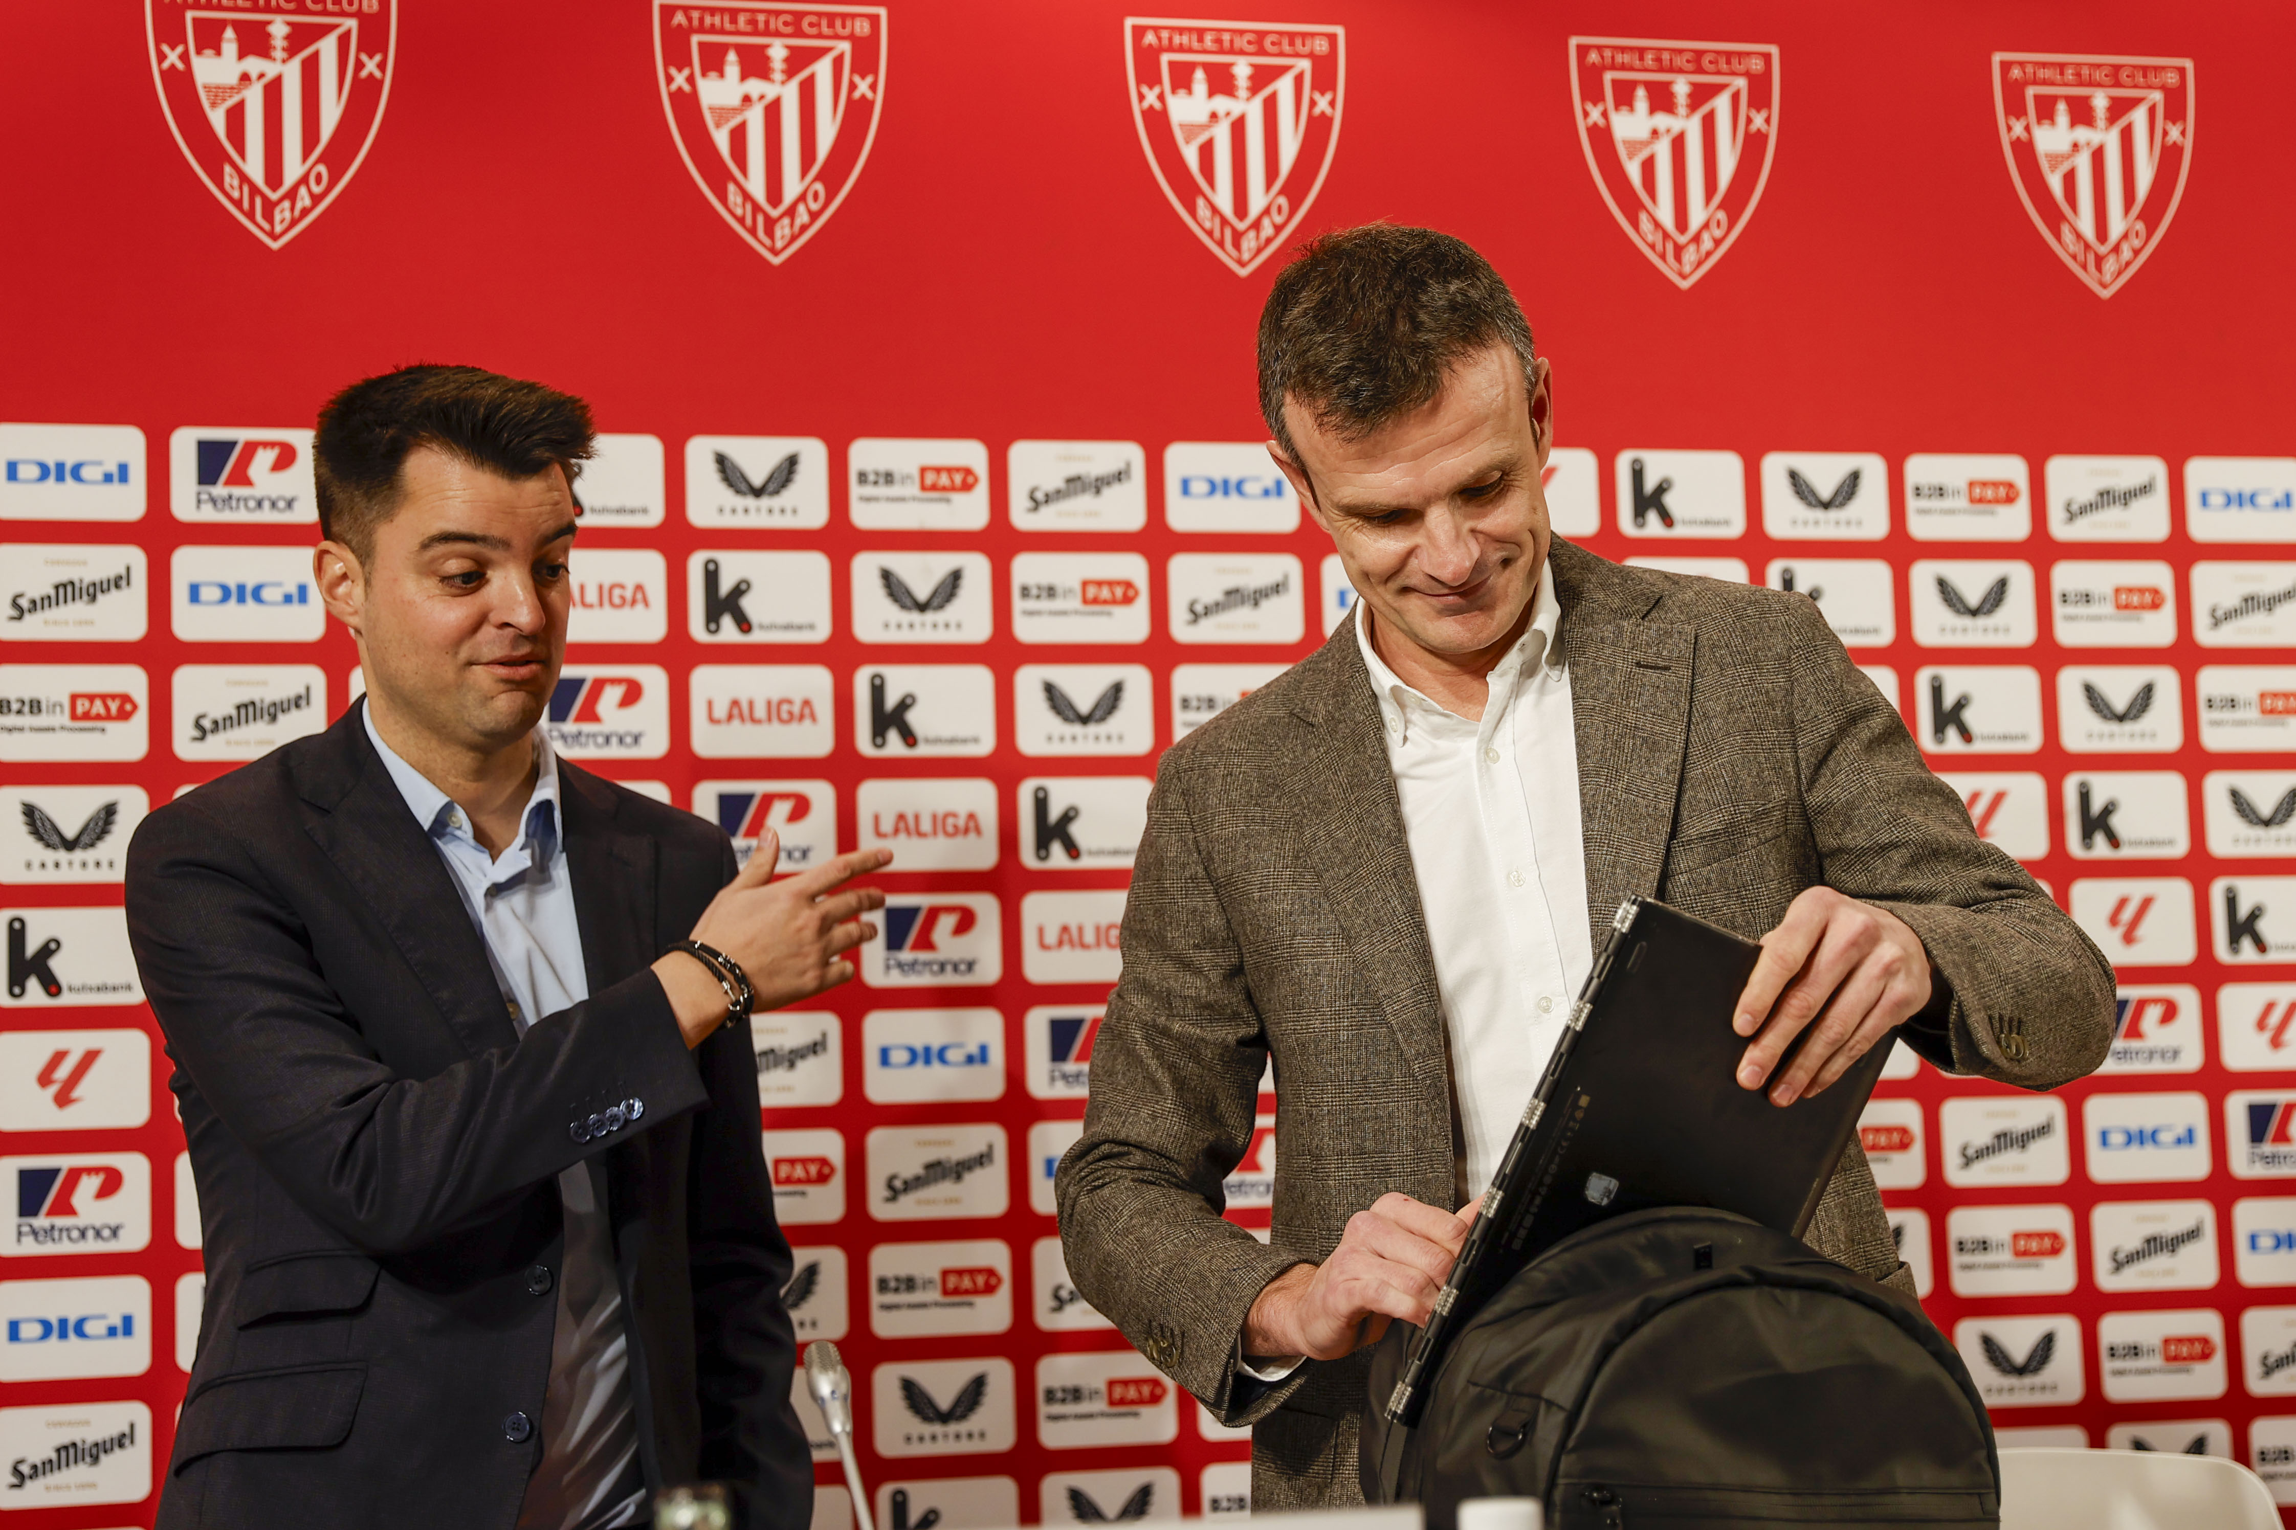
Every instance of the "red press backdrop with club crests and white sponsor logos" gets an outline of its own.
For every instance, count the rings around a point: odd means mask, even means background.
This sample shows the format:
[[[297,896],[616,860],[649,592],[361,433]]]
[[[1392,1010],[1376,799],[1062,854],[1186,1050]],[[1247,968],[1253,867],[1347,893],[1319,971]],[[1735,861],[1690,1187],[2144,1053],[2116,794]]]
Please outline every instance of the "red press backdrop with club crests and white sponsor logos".
[[[9,7],[0,1514],[152,1519],[200,1250],[119,856],[347,704],[298,431],[409,360],[613,431],[567,752],[902,856],[870,982],[760,1028],[879,1523],[1242,1509],[1247,1443],[1068,1289],[1045,1165],[1157,750],[1343,610],[1249,445],[1251,323],[1373,218],[1515,284],[1566,532],[1814,594],[2122,963],[2110,1071],[1906,1069],[1867,1119],[2002,1429],[2296,1498],[2291,44],[2264,5]]]

